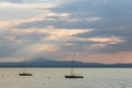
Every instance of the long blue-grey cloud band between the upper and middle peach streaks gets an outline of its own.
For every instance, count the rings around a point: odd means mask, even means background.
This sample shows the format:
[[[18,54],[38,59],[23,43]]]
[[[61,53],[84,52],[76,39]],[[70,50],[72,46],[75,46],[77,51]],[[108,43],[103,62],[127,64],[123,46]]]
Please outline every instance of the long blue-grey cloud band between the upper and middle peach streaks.
[[[55,19],[55,21],[50,21],[50,20],[44,20],[44,21],[37,21],[37,22],[25,22],[25,23],[22,23],[20,24],[19,26],[15,26],[15,28],[19,28],[19,29],[41,29],[41,28],[44,28],[44,26],[48,26],[48,25],[53,25],[57,29],[90,29],[89,24],[84,22],[84,23],[79,23],[79,22],[76,22],[76,23],[70,23],[70,22],[66,22],[65,20],[58,20],[58,19]]]

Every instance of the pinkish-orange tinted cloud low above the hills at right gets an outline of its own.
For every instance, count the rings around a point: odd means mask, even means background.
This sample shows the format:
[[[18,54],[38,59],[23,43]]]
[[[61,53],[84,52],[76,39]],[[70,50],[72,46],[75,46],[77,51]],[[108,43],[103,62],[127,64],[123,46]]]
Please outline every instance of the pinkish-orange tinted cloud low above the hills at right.
[[[132,52],[88,55],[82,59],[89,63],[132,63]]]

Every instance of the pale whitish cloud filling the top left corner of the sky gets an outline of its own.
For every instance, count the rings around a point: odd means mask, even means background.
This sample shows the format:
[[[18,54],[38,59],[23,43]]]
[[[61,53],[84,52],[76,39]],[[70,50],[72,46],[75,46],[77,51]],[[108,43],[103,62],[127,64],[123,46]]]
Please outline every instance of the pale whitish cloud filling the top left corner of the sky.
[[[38,16],[40,14],[51,11],[51,8],[56,8],[61,2],[24,2],[24,3],[13,3],[13,2],[0,2],[0,20],[26,20],[31,18]],[[43,9],[43,10],[41,10]],[[10,15],[9,15],[10,14]],[[65,15],[65,14],[63,14]]]

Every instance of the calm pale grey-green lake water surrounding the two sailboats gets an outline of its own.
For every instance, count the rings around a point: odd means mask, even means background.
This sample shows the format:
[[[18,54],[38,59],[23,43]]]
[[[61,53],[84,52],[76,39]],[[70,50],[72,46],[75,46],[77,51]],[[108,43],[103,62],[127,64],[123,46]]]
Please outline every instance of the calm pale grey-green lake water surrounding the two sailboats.
[[[69,68],[0,68],[0,88],[132,88],[131,68],[76,68],[82,79],[66,79]]]

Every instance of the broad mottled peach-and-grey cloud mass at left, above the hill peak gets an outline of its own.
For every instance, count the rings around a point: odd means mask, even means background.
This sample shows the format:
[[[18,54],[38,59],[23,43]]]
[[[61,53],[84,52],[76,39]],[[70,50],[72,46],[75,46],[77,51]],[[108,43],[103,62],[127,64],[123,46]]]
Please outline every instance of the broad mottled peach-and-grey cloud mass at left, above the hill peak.
[[[23,22],[21,20],[19,21],[20,23]],[[14,22],[14,25],[18,25],[19,21]],[[54,26],[41,29],[8,28],[4,28],[0,31],[0,41],[2,42],[0,47],[6,48],[4,51],[0,51],[2,57],[21,57],[23,54],[28,55],[29,57],[33,57],[43,55],[43,52],[59,52],[63,48],[63,44],[73,37],[74,34],[94,31],[94,29],[56,29]]]

